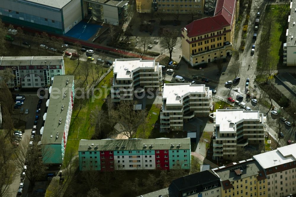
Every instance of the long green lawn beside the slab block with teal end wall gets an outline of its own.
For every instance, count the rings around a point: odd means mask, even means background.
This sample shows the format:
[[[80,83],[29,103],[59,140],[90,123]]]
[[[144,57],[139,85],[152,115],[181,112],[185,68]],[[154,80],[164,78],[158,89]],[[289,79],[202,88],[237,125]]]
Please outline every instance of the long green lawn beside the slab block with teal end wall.
[[[81,101],[76,99],[74,101],[74,109],[72,113],[70,129],[68,134],[67,140],[67,150],[73,148],[78,153],[78,145],[80,139],[91,139],[92,135],[94,134],[94,127],[91,126],[91,120],[89,115],[96,106],[101,109],[102,105],[104,104],[104,100],[107,95],[109,94],[110,90],[110,79],[113,77],[113,72],[111,71],[105,78],[102,80],[96,88],[101,88],[102,92],[100,95],[99,91],[96,91],[94,94],[95,96],[99,97],[98,99],[93,99],[94,97],[90,97],[90,99],[84,99],[82,103]],[[103,88],[104,86],[105,88]],[[80,105],[81,109],[80,109]],[[79,111],[80,109],[80,111]]]

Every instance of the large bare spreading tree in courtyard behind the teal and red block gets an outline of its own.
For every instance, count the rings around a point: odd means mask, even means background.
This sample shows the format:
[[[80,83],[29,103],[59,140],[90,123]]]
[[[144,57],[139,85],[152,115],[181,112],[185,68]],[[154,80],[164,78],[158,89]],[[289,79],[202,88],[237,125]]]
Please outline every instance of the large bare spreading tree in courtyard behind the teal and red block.
[[[117,109],[112,112],[112,120],[119,123],[123,129],[122,135],[128,138],[134,138],[138,127],[146,123],[146,109],[134,110],[136,101],[121,101]]]

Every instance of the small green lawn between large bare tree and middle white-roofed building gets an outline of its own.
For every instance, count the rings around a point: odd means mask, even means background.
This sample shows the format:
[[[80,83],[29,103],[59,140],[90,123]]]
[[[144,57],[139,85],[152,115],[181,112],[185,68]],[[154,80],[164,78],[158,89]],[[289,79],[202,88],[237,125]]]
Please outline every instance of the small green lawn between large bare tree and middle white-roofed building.
[[[146,108],[147,111],[149,110],[146,118],[146,131],[143,133],[143,129],[138,128],[136,138],[148,138],[151,135],[152,130],[154,130],[155,123],[157,123],[160,115],[160,108],[158,108],[157,105],[146,105]],[[156,113],[156,115],[152,114],[153,112]],[[159,124],[156,125],[156,127],[155,130],[159,129]]]

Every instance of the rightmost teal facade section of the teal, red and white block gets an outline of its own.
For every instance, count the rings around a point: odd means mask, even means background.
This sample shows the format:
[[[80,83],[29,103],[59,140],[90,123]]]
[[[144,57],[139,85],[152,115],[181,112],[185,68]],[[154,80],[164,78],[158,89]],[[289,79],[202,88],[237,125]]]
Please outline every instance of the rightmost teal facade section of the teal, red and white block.
[[[190,162],[191,162],[191,151],[190,150],[169,150],[168,151],[169,157],[169,167],[170,169],[176,168],[176,165],[181,165],[182,169],[190,169]],[[186,161],[187,160],[187,161]],[[173,166],[173,164],[175,166]],[[187,166],[186,166],[187,164]]]

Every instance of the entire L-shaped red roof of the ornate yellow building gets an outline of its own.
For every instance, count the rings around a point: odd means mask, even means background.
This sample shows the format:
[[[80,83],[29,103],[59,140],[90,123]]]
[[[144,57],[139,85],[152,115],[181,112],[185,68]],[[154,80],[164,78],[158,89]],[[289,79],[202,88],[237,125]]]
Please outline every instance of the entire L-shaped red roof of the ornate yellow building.
[[[186,25],[187,36],[194,37],[232,25],[236,1],[237,0],[218,0],[214,17],[202,18]],[[182,30],[184,30],[184,28]]]

